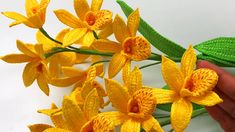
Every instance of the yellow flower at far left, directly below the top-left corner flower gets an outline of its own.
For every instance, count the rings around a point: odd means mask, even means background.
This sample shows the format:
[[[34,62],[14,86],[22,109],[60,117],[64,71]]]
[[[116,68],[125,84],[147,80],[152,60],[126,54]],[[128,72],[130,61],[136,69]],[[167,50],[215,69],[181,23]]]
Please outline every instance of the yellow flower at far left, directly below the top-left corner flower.
[[[46,95],[49,95],[48,68],[43,56],[44,51],[42,45],[24,44],[21,41],[17,41],[17,48],[23,54],[9,54],[3,56],[1,59],[7,63],[28,62],[23,72],[24,85],[28,87],[37,80],[39,88]]]

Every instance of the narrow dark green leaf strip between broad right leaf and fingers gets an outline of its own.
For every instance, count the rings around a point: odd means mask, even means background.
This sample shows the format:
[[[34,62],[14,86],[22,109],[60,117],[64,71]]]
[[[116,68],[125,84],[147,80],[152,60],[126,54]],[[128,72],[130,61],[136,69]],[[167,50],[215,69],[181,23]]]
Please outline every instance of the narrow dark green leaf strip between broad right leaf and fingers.
[[[221,60],[212,56],[207,56],[203,54],[197,55],[198,59],[210,61],[218,66],[222,67],[235,67],[235,62]]]

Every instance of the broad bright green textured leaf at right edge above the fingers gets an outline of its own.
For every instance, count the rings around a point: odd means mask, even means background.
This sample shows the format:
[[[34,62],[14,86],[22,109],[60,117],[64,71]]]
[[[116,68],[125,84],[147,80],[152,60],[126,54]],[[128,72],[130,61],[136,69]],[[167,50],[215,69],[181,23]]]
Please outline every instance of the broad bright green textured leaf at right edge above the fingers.
[[[235,38],[220,37],[202,42],[194,48],[208,57],[218,58],[218,60],[224,62],[235,62]],[[223,62],[220,63],[224,64]]]

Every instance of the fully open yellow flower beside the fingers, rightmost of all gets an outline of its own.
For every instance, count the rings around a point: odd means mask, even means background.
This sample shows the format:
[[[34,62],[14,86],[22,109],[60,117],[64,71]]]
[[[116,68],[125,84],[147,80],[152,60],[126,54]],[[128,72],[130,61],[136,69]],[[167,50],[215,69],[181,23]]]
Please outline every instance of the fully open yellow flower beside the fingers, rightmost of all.
[[[183,131],[190,122],[193,106],[213,106],[222,99],[212,91],[218,81],[216,72],[198,69],[196,53],[192,46],[184,53],[181,68],[172,60],[162,57],[162,75],[170,90],[154,89],[154,96],[159,103],[171,103],[171,124],[176,132]]]

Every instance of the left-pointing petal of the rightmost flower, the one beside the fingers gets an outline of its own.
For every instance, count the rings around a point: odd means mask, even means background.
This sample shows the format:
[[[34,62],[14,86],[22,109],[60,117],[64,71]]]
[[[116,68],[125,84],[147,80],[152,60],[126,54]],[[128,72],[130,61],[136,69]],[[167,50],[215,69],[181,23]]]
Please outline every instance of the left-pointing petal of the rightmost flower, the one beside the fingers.
[[[172,103],[176,98],[175,91],[165,90],[161,88],[152,88],[153,96],[157,100],[157,104]]]

